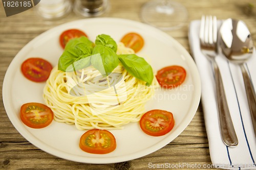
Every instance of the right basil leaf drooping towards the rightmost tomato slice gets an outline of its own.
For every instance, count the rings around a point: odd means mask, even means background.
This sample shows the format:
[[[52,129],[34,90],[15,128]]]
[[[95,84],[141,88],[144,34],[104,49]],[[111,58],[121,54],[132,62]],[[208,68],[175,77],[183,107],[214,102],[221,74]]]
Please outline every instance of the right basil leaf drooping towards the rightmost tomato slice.
[[[146,82],[146,85],[152,84],[154,78],[153,69],[144,58],[135,54],[118,55],[118,58],[131,75]]]

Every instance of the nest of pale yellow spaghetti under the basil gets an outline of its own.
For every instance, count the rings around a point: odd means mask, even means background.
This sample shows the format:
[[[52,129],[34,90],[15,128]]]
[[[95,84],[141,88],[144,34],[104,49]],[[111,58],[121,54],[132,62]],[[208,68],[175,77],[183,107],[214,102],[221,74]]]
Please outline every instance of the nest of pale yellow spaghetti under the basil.
[[[134,52],[118,44],[117,53]],[[158,83],[154,79],[151,86],[146,86],[121,64],[108,77],[93,66],[75,72],[54,67],[44,88],[44,100],[57,122],[74,124],[79,130],[122,129],[139,121],[155,85]]]

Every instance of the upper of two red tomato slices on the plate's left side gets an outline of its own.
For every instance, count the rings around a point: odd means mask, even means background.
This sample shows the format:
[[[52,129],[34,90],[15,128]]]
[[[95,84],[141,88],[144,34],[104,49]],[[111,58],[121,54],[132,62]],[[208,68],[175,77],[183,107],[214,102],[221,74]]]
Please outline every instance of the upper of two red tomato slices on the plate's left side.
[[[22,63],[23,75],[33,82],[46,81],[51,73],[52,65],[41,58],[29,58]]]

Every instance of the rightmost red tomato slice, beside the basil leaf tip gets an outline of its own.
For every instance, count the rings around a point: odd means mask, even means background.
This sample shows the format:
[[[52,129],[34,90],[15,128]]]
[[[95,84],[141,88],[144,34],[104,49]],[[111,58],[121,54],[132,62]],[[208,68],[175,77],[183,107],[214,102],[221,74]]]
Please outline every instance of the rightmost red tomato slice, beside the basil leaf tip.
[[[186,70],[178,65],[164,67],[157,72],[156,78],[162,87],[171,89],[184,82]]]

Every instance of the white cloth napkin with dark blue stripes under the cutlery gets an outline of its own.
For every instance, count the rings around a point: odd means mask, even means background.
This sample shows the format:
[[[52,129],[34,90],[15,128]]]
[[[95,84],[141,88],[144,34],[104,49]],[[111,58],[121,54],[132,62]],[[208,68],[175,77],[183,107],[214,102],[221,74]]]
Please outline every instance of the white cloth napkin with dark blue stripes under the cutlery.
[[[221,22],[218,21],[219,25]],[[200,20],[191,21],[188,33],[189,43],[202,80],[201,101],[211,162],[216,167],[224,169],[256,169],[256,139],[240,67],[227,61],[221,54],[216,57],[230,115],[239,140],[238,146],[231,148],[226,147],[221,138],[214,70],[210,61],[201,53],[199,30]],[[256,53],[247,61],[245,67],[248,69],[254,89],[256,89]]]

